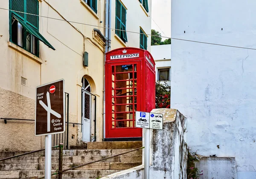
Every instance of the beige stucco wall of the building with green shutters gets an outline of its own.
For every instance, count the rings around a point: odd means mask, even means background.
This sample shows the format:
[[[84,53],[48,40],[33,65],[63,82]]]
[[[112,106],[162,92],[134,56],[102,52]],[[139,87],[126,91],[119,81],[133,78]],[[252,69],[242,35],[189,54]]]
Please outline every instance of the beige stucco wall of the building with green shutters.
[[[47,2],[52,7],[48,6]],[[122,3],[128,9],[127,30],[140,32],[141,26],[146,33],[150,33],[151,17],[145,14],[139,1],[123,0]],[[115,27],[115,4],[115,0],[112,0],[112,28]],[[1,7],[9,9],[9,0],[3,0]],[[93,14],[89,9],[80,0],[39,0],[39,14],[45,16],[39,18],[40,33],[56,49],[54,51],[40,42],[39,58],[9,42],[9,12],[0,10],[0,118],[34,119],[35,88],[64,78],[65,92],[69,93],[70,97],[69,121],[81,123],[81,78],[86,75],[92,86],[92,93],[97,96],[96,140],[102,141],[105,49],[104,44],[93,35],[93,28],[101,26],[98,29],[104,34],[105,0],[98,0],[98,14]],[[142,18],[137,19],[137,16]],[[74,28],[63,21],[64,18],[94,26],[72,23]],[[126,45],[139,47],[139,34],[127,32],[127,35]],[[111,49],[123,46],[113,30]],[[84,51],[89,53],[88,67],[82,64]],[[21,77],[27,79],[26,86],[21,84]],[[17,99],[19,101],[16,101]],[[35,150],[44,147],[44,137],[35,137],[34,127],[33,122],[8,121],[4,124],[1,120],[0,150]],[[70,125],[69,133],[69,144],[76,145],[81,140],[81,126]],[[71,138],[72,135],[75,136],[74,139]]]

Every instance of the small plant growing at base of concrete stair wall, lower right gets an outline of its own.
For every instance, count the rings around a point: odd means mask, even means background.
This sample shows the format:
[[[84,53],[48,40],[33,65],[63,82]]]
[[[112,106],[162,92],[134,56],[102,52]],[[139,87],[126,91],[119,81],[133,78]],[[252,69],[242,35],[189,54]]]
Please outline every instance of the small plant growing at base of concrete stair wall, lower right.
[[[191,153],[188,153],[188,161],[187,161],[187,179],[198,179],[199,175],[203,175],[203,170],[201,172],[198,171],[198,168],[195,167],[195,161],[198,159],[195,156],[192,156]]]

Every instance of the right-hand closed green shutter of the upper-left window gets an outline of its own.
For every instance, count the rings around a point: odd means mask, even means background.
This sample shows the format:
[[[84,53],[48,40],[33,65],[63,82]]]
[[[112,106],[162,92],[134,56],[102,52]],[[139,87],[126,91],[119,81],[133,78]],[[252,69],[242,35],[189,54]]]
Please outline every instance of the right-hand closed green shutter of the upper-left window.
[[[26,0],[26,23],[35,29],[38,29],[38,0]],[[32,15],[35,14],[35,15]]]

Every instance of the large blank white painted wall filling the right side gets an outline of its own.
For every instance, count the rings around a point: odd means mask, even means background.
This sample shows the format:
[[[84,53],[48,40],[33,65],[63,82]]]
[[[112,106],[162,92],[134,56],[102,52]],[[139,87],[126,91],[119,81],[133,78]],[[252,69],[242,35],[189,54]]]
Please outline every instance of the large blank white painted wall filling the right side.
[[[172,0],[172,38],[256,48],[255,6]],[[256,50],[172,40],[171,107],[187,117],[190,152],[235,157],[238,179],[256,178],[255,58]]]

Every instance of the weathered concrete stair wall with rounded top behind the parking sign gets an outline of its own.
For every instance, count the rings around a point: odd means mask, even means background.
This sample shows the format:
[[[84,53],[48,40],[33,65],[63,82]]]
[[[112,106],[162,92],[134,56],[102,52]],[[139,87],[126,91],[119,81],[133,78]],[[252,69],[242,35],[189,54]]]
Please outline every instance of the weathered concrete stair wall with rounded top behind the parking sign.
[[[186,179],[187,147],[183,139],[185,117],[174,109],[154,109],[163,114],[163,130],[151,130],[150,179]],[[143,133],[144,145],[144,133]],[[102,179],[144,179],[143,165],[113,173]]]

